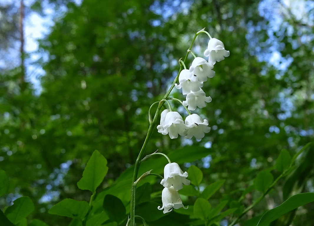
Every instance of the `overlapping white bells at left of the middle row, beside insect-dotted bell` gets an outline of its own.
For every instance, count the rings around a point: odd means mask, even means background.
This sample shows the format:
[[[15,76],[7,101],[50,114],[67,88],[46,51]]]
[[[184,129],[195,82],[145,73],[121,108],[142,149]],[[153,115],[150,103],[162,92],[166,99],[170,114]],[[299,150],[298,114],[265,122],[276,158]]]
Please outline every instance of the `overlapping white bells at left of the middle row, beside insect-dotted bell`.
[[[160,120],[157,126],[158,132],[163,135],[169,134],[171,139],[178,138],[178,134],[185,136],[187,134],[186,126],[182,120],[182,116],[176,111],[169,111],[165,114],[164,124]]]

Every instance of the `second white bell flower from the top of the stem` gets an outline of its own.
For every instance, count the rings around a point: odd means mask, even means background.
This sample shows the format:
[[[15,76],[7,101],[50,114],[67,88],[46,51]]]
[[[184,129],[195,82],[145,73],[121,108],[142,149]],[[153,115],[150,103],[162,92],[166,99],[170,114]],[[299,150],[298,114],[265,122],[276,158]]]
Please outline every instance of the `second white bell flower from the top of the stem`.
[[[213,78],[215,72],[212,70],[214,65],[210,62],[207,62],[202,57],[196,57],[189,69],[193,73],[194,78],[196,77],[199,82],[206,82],[207,78]]]

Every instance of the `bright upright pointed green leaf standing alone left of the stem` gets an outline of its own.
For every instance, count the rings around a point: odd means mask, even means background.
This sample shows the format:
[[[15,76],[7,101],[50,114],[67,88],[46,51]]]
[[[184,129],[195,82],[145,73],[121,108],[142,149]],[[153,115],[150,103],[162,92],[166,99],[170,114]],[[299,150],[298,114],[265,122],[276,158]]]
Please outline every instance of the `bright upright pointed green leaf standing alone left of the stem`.
[[[104,180],[107,172],[107,159],[95,150],[86,164],[83,177],[77,183],[78,188],[95,193],[96,188]]]

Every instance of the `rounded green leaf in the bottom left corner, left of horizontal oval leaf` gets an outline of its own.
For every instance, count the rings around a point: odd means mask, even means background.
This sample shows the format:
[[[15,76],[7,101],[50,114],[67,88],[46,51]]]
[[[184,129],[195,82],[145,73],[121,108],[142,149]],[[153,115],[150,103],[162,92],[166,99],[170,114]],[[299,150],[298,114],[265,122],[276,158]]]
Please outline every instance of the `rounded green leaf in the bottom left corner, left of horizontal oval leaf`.
[[[26,218],[35,209],[34,203],[28,196],[23,196],[14,201],[14,204],[5,211],[7,218],[14,224]]]

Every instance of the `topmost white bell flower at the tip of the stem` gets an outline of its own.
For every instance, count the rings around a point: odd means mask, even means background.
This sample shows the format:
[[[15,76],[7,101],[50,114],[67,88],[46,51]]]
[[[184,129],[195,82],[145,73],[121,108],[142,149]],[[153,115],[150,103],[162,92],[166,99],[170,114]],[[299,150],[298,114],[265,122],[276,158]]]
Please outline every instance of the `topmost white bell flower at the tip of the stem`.
[[[225,50],[225,46],[222,41],[216,38],[211,38],[208,41],[208,47],[204,51],[204,55],[208,56],[208,62],[215,64],[216,61],[222,61],[225,57],[229,56],[230,52]]]

